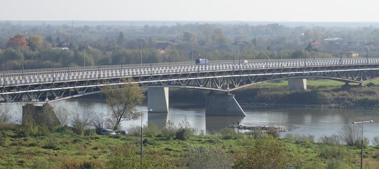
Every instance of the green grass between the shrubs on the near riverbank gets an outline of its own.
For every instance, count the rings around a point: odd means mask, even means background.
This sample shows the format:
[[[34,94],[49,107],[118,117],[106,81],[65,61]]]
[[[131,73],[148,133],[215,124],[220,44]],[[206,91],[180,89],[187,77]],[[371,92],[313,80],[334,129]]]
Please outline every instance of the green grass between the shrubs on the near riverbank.
[[[2,130],[0,142],[0,166],[3,168],[31,168],[32,166],[67,167],[75,165],[98,166],[106,168],[106,164],[119,151],[132,151],[138,155],[140,138],[126,136],[93,135],[83,136],[51,132],[47,136],[16,137],[15,130]],[[184,168],[184,160],[189,153],[189,147],[213,147],[234,157],[241,151],[251,147],[255,139],[247,136],[225,138],[222,135],[189,136],[189,139],[175,140],[166,137],[144,136],[144,157],[149,161],[165,161],[174,168]],[[328,145],[314,142],[296,142],[291,139],[281,139],[287,152],[300,166],[317,162],[327,164]],[[334,147],[344,153],[341,162],[349,168],[359,167],[360,149],[338,145]],[[369,146],[364,150],[365,161],[372,166],[379,165],[379,148]],[[321,154],[323,155],[321,156]],[[340,156],[337,156],[340,157]],[[137,158],[138,159],[138,158]],[[46,162],[46,163],[41,163]],[[0,167],[0,168],[1,168]]]

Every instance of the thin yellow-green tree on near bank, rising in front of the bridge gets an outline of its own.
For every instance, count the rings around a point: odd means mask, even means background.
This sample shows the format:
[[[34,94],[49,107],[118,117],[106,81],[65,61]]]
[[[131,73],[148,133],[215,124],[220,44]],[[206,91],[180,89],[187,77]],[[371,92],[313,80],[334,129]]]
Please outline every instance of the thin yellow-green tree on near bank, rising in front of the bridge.
[[[123,79],[122,82],[126,84],[108,85],[102,91],[102,94],[107,97],[108,111],[114,119],[114,130],[122,121],[138,119],[140,114],[132,113],[132,111],[135,111],[136,106],[145,99],[138,84],[132,84],[131,79]]]

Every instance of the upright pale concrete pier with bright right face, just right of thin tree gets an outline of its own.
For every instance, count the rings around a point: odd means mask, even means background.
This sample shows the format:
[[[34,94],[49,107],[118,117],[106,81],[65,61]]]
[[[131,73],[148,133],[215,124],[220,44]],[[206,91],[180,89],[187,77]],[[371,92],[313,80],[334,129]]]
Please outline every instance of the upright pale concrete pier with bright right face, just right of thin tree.
[[[148,88],[148,108],[155,113],[168,112],[168,87]]]

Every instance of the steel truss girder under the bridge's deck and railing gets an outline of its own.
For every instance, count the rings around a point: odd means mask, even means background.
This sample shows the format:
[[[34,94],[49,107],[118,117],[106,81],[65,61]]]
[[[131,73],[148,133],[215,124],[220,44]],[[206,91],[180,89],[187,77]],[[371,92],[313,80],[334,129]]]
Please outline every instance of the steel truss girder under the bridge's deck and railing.
[[[1,102],[51,102],[66,98],[98,93],[106,85],[124,84],[123,78],[99,79],[68,83],[4,87]],[[217,91],[232,91],[265,81],[290,78],[321,78],[358,83],[379,78],[379,66],[300,67],[225,72],[197,72],[179,75],[131,77],[141,87],[183,87]]]

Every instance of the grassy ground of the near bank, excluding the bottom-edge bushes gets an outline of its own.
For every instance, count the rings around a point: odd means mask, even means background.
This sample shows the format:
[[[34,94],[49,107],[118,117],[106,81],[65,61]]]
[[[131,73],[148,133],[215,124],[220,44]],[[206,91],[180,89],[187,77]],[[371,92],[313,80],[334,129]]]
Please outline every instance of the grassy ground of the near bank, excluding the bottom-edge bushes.
[[[16,129],[15,129],[16,128]],[[63,127],[64,128],[64,127]],[[59,131],[58,131],[59,130]],[[140,137],[132,135],[76,135],[64,129],[52,131],[45,136],[17,135],[17,126],[0,128],[0,168],[38,169],[85,169],[117,168],[114,164],[130,163],[130,168],[139,168]],[[301,169],[323,169],[341,166],[341,169],[356,169],[360,164],[360,149],[345,145],[326,145],[304,138],[284,138],[283,143],[289,162]],[[161,134],[144,136],[144,165],[146,168],[186,168],[191,163],[202,163],[204,151],[190,153],[191,148],[211,148],[225,154],[233,167],[237,157],[258,139],[239,135],[196,135],[187,140],[167,139]],[[205,151],[206,152],[206,151]],[[125,158],[120,158],[125,157]],[[365,169],[379,166],[379,147],[369,146],[364,150]],[[205,160],[206,163],[217,162]],[[118,160],[118,161],[117,161]],[[193,160],[193,161],[191,161]],[[223,160],[225,161],[225,160]],[[205,163],[204,162],[204,163]]]

